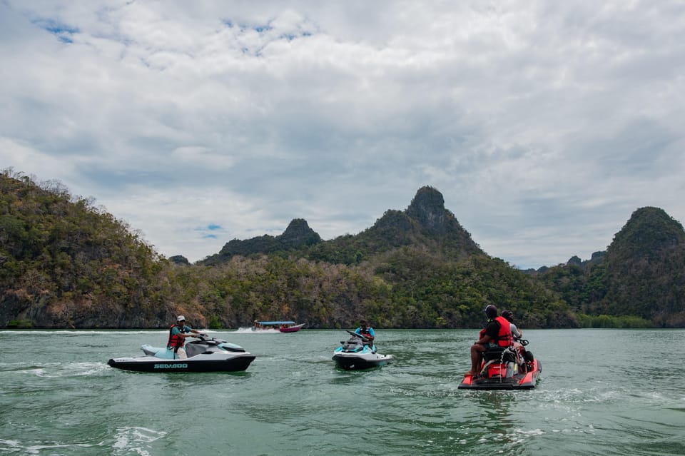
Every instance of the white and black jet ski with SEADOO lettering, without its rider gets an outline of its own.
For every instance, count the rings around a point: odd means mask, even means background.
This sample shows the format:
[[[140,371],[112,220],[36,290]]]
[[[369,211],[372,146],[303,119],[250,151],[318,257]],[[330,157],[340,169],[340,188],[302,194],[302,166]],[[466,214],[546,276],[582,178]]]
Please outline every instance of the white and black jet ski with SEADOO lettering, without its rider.
[[[155,348],[144,344],[144,355],[131,358],[112,358],[107,362],[113,368],[138,372],[236,372],[245,370],[255,359],[240,345],[226,340],[198,335],[198,340],[186,343],[188,358],[178,359],[168,348]]]

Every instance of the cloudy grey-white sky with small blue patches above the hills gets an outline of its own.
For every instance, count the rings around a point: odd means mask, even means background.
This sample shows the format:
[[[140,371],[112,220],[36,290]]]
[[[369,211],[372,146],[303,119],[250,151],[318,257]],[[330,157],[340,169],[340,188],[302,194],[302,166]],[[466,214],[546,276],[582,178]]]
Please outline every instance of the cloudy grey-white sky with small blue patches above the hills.
[[[442,193],[517,268],[685,222],[682,1],[0,0],[0,168],[191,262]]]

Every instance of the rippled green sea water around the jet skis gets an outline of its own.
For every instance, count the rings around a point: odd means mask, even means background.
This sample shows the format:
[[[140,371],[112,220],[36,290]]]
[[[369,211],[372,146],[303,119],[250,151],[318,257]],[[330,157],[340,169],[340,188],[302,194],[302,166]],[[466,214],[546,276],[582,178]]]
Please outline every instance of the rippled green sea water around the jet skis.
[[[534,390],[457,390],[477,330],[218,331],[244,373],[131,373],[166,331],[0,331],[0,455],[685,455],[685,330],[524,330]]]

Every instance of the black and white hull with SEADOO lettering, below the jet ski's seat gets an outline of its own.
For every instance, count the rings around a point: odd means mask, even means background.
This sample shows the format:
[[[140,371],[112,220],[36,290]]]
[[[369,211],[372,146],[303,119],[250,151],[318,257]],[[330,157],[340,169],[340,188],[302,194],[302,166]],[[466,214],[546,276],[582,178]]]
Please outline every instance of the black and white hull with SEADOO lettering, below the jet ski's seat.
[[[107,362],[112,368],[135,372],[240,372],[248,368],[255,355],[243,354],[233,357],[198,355],[186,360],[163,360],[152,356],[112,358]]]

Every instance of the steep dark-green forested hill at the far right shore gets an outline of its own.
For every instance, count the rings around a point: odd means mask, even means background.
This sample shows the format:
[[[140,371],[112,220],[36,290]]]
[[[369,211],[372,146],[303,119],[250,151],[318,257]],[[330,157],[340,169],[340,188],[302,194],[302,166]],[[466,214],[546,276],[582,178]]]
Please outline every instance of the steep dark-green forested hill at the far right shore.
[[[574,257],[537,277],[577,313],[685,327],[685,230],[663,209],[639,208],[606,252],[585,262]]]

